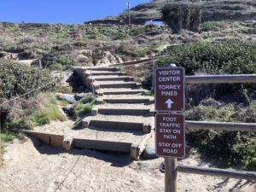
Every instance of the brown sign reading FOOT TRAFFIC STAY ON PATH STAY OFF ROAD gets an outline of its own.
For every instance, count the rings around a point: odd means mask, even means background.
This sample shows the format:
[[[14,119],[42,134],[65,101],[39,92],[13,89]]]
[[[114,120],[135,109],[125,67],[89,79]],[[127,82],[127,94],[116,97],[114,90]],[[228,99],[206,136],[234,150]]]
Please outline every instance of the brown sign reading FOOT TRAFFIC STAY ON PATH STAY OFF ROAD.
[[[156,114],[155,145],[156,154],[160,157],[183,158],[185,156],[183,114]]]

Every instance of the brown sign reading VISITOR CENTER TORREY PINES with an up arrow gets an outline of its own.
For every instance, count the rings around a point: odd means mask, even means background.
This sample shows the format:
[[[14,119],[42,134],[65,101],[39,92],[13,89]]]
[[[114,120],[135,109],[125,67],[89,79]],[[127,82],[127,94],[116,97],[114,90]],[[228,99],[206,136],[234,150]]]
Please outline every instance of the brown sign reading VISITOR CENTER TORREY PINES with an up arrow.
[[[183,67],[161,67],[154,71],[155,111],[183,112],[184,110]]]

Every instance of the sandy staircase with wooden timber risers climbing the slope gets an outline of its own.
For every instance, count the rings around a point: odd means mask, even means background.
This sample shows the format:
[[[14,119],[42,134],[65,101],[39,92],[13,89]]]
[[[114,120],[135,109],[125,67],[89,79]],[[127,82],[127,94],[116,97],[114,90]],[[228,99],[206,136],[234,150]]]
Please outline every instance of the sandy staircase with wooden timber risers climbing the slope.
[[[73,143],[92,148],[131,153],[138,160],[154,133],[152,96],[117,67],[84,69],[85,82],[96,92],[96,107],[82,120],[90,143]]]

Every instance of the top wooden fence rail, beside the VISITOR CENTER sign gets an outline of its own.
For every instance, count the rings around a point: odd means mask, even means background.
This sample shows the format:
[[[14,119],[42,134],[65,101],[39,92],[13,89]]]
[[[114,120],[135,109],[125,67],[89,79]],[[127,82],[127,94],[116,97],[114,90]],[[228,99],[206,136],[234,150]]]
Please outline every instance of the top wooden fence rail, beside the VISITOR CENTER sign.
[[[186,84],[245,84],[256,83],[256,74],[186,76]]]

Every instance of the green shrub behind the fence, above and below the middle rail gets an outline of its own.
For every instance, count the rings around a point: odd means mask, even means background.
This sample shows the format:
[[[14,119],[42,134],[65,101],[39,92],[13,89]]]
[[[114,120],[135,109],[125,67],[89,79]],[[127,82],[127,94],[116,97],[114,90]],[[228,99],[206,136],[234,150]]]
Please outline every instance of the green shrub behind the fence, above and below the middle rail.
[[[247,109],[250,113],[255,113],[253,106]],[[235,109],[233,105],[220,108],[198,106],[185,114],[187,120],[239,122],[244,116],[243,110]],[[256,123],[256,119],[247,123]],[[241,165],[244,169],[256,170],[256,134],[253,132],[188,130],[187,140],[201,154],[218,160],[223,166]]]

